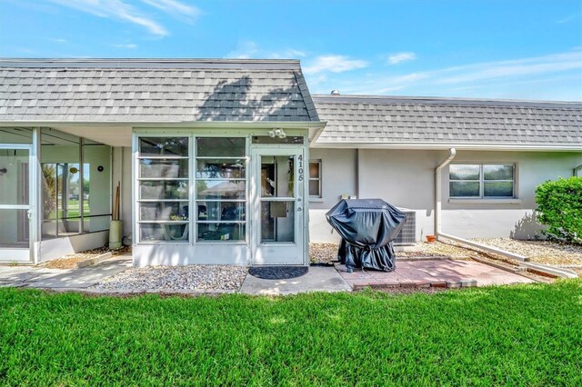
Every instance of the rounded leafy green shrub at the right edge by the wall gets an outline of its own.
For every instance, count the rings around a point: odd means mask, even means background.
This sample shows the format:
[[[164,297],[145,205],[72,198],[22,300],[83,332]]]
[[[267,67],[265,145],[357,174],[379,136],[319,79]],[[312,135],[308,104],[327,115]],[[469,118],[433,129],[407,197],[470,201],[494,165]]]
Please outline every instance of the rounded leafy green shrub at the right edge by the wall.
[[[537,219],[548,237],[582,243],[582,177],[547,181],[536,189]]]

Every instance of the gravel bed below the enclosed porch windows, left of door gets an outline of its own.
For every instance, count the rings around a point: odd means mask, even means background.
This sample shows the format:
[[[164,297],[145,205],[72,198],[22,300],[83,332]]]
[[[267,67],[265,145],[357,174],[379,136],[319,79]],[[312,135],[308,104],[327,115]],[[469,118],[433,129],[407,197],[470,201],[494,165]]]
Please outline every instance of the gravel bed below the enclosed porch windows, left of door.
[[[93,289],[147,290],[238,290],[248,267],[235,265],[148,266],[131,268],[105,279]]]

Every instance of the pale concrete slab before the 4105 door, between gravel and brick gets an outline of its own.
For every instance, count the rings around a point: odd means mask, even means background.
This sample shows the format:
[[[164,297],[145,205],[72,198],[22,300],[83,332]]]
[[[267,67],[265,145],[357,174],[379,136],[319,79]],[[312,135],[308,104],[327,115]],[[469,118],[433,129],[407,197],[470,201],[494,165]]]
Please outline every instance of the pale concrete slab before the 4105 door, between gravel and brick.
[[[278,295],[307,292],[350,292],[351,290],[333,267],[311,266],[305,275],[289,280],[264,280],[246,274],[240,293]]]

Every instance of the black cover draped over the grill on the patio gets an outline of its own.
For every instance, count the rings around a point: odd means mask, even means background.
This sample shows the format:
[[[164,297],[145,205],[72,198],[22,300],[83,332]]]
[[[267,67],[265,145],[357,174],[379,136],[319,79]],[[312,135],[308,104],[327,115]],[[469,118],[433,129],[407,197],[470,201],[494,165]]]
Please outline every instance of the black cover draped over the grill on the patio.
[[[337,257],[354,267],[392,272],[396,269],[392,241],[406,215],[382,199],[343,199],[326,213],[327,222],[342,237]]]

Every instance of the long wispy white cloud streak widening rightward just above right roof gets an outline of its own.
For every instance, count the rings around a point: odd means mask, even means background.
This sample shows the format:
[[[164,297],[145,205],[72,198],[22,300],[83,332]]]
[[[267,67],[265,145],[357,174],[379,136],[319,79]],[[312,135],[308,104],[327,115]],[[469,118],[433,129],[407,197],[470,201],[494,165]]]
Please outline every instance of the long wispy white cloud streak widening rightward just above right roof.
[[[560,99],[547,90],[549,79],[567,77],[570,89],[582,90],[582,51],[519,58],[505,61],[482,62],[449,66],[408,74],[374,73],[349,79],[334,79],[317,85],[317,92],[338,88],[344,94],[464,95],[476,97],[516,98],[544,97]],[[311,82],[311,79],[308,79]],[[333,82],[333,83],[332,83]],[[543,82],[543,84],[542,84]],[[505,89],[502,90],[502,86]],[[538,90],[536,89],[538,87]],[[566,84],[556,80],[555,89],[566,90]],[[513,93],[513,94],[512,94]],[[582,97],[578,91],[564,91],[561,99]],[[572,95],[577,97],[572,97]]]

